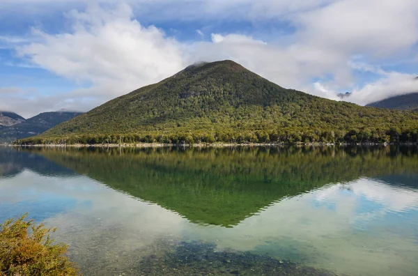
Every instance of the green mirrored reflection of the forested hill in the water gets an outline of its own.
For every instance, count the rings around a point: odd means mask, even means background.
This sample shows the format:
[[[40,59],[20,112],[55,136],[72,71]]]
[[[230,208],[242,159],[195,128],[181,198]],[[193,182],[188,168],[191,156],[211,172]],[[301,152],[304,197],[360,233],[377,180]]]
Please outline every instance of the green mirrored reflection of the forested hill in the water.
[[[415,173],[417,148],[80,148],[32,150],[191,222],[236,225],[330,183]]]

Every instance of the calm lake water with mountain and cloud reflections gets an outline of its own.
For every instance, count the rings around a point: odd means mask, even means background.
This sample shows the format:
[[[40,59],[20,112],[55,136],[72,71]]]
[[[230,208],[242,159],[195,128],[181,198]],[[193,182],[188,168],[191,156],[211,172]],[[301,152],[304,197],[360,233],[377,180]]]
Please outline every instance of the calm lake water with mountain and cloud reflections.
[[[417,275],[418,148],[0,148],[84,275]]]

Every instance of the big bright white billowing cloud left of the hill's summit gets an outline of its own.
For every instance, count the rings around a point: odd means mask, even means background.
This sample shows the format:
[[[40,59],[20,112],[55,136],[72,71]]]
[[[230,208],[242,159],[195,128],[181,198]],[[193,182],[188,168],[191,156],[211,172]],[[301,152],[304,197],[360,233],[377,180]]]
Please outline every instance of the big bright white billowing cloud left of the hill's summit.
[[[42,42],[17,48],[20,56],[57,75],[121,95],[181,70],[180,45],[155,26],[132,20],[132,10],[89,6],[68,13],[74,31],[50,35],[34,29]]]

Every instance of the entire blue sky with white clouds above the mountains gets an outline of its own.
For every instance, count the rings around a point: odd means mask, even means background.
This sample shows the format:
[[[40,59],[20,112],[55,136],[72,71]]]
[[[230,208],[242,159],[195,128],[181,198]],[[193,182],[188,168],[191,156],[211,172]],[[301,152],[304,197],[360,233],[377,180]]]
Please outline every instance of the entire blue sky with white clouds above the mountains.
[[[0,110],[25,118],[224,59],[358,105],[417,92],[418,1],[0,1]]]

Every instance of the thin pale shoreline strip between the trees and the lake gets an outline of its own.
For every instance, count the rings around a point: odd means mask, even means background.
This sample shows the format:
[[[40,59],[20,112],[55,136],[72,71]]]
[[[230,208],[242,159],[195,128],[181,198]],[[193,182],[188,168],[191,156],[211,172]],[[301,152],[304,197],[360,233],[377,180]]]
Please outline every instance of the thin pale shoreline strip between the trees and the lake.
[[[307,144],[284,144],[284,143],[200,143],[200,144],[160,144],[160,143],[135,143],[135,144],[36,144],[36,145],[15,145],[0,144],[0,146],[11,146],[16,148],[229,148],[229,147],[260,147],[260,146],[418,146],[417,143],[307,143]]]

